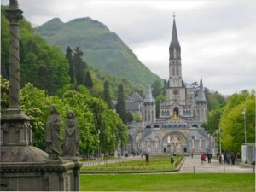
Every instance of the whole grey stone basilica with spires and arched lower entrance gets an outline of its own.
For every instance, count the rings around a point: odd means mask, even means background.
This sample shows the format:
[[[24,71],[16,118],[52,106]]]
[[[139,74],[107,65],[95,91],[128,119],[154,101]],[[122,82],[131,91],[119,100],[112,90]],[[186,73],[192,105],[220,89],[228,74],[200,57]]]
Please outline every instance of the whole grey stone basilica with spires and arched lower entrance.
[[[149,83],[145,98],[135,92],[126,101],[126,110],[140,114],[143,119],[141,123],[129,125],[129,141],[124,148],[126,153],[212,152],[212,137],[201,127],[207,121],[207,99],[202,78],[196,88],[183,81],[175,17],[169,55],[166,101],[160,102],[159,118],[156,118],[155,99]]]

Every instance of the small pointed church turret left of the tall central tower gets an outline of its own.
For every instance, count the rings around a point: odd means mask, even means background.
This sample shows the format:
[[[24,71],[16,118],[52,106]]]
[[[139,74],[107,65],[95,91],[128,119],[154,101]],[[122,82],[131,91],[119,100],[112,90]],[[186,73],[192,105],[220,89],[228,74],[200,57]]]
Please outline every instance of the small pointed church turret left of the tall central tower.
[[[155,100],[152,96],[151,87],[148,81],[147,95],[144,99],[144,114],[143,121],[144,122],[154,122],[155,121]]]

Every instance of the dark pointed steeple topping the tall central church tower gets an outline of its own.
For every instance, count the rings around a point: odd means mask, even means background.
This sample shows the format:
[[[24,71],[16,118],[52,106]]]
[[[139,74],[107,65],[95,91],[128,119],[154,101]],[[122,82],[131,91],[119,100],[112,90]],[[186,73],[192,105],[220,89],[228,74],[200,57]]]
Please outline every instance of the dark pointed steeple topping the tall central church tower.
[[[180,45],[177,39],[177,28],[175,22],[175,15],[173,15],[173,25],[172,25],[172,41],[169,47],[170,60],[180,59]]]

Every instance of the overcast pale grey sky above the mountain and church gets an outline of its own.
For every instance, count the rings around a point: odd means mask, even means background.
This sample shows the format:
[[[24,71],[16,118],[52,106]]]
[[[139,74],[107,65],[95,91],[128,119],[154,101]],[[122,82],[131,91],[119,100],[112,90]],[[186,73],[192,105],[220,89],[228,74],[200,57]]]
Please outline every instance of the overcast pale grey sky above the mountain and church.
[[[55,17],[63,22],[88,16],[99,20],[163,79],[168,79],[175,12],[185,82],[199,82],[202,74],[205,87],[224,95],[255,89],[256,1],[19,0],[19,4],[35,26]]]

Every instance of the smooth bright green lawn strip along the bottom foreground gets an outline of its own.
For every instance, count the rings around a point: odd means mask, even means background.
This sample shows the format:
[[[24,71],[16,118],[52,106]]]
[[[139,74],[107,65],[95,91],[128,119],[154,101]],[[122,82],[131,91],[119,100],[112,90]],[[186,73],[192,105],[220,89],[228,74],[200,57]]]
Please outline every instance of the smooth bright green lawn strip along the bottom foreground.
[[[81,191],[255,191],[254,174],[80,175]]]

